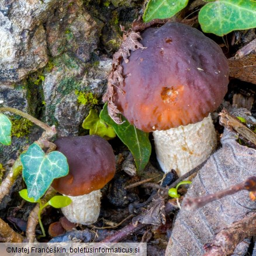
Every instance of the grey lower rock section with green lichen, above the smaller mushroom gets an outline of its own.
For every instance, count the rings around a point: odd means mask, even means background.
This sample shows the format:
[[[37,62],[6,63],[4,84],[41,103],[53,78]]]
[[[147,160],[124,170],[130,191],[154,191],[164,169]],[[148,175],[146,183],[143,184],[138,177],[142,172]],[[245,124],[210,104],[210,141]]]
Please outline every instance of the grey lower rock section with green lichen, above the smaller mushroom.
[[[99,100],[106,88],[111,63],[107,58],[84,68],[77,59],[67,54],[61,56],[58,66],[45,74],[43,82],[46,122],[56,124],[65,135],[77,134],[92,108],[92,102],[83,104],[78,101],[78,92],[85,96],[91,93]]]

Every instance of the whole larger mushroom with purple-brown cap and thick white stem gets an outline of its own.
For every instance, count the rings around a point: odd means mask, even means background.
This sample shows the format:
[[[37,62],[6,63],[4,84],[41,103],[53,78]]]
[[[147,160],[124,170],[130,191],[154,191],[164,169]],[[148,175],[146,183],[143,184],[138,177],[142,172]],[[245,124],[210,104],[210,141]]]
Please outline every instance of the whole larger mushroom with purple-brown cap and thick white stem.
[[[122,61],[112,103],[144,132],[153,132],[161,168],[179,175],[216,147],[209,113],[227,92],[229,66],[222,49],[199,30],[165,23],[141,33],[143,48]]]

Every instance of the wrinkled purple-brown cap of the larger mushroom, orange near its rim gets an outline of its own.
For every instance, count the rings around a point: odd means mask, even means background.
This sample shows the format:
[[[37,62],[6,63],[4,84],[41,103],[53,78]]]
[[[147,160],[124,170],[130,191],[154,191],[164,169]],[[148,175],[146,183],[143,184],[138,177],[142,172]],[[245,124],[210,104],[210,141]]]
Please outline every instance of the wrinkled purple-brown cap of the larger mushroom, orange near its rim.
[[[229,65],[222,49],[199,30],[165,23],[141,33],[146,49],[122,62],[124,82],[114,87],[117,109],[140,130],[197,123],[227,92]]]

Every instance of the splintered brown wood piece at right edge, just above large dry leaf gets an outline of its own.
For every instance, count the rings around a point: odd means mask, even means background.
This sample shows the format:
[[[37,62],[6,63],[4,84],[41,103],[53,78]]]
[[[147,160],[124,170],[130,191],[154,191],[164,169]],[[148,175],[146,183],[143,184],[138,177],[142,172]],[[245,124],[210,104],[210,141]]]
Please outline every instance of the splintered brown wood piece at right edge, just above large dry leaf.
[[[251,141],[256,145],[256,134],[252,132],[248,127],[241,123],[236,117],[227,112],[226,109],[222,110],[220,115],[220,123],[227,127],[228,129],[232,128],[237,133],[241,134],[245,139]]]

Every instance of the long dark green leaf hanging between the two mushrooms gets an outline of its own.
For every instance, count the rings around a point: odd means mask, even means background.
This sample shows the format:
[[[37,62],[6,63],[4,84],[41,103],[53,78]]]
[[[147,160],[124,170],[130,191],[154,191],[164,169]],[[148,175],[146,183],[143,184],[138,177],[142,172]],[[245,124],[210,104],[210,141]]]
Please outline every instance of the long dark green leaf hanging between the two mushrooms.
[[[132,152],[138,171],[145,168],[151,154],[151,144],[148,133],[144,133],[130,124],[124,117],[122,124],[115,123],[108,114],[108,106],[105,104],[99,118],[113,127],[117,136]]]

